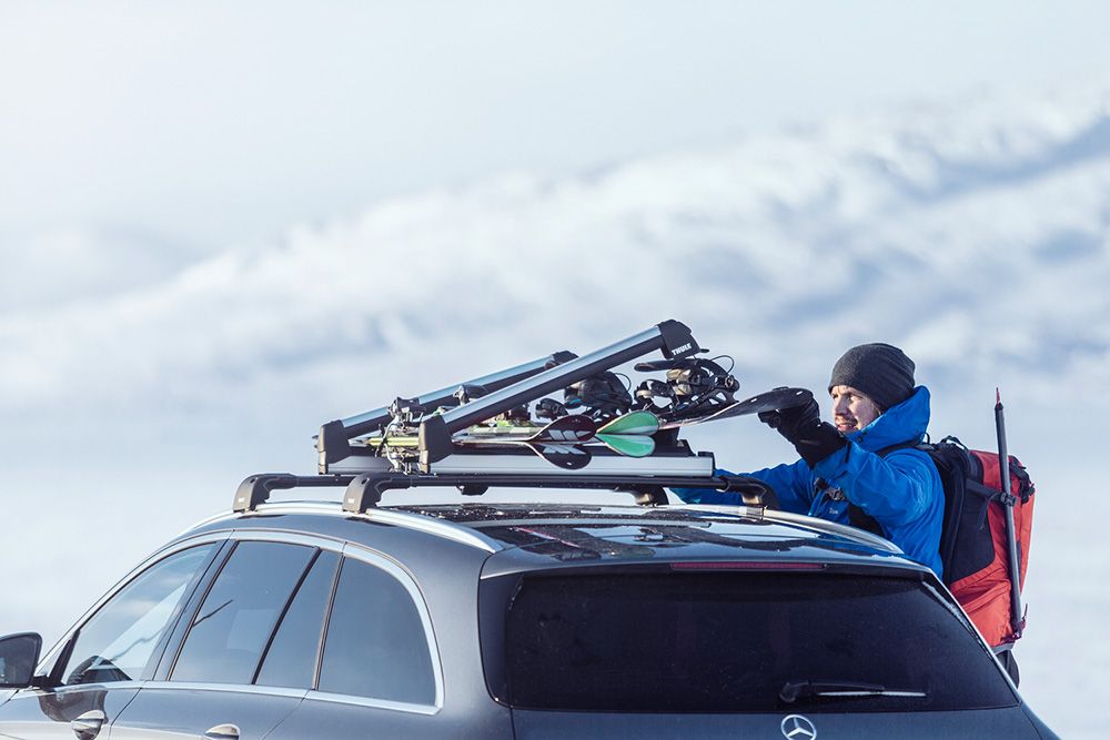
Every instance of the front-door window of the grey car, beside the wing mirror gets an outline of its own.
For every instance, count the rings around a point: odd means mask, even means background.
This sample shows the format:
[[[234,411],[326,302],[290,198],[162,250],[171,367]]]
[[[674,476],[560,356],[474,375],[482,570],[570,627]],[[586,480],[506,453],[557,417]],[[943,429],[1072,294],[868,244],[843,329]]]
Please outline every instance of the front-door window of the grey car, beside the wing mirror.
[[[142,678],[213,547],[191,547],[159,560],[107,601],[81,626],[62,685]]]

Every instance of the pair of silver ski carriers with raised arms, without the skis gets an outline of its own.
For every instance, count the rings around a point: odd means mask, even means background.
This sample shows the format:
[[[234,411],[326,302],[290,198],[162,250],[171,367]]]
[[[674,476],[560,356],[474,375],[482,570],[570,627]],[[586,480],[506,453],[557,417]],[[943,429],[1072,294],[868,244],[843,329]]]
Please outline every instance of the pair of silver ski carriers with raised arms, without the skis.
[[[316,437],[319,472],[321,474],[395,472],[389,460],[366,447],[352,445],[351,440],[373,432],[381,432],[387,424],[401,419],[415,423],[415,419],[421,417],[416,429],[416,468],[422,474],[500,473],[539,477],[544,474],[552,475],[551,466],[531,453],[492,454],[463,449],[452,442],[452,435],[655,351],[660,351],[666,359],[675,359],[693,356],[702,349],[689,327],[675,320],[668,320],[582,357],[566,351],[558,352],[461,386],[450,386],[414,399],[397,398],[387,408],[374,409],[323,425]],[[468,388],[480,391],[481,395],[470,399],[468,396],[474,394]],[[447,410],[430,415],[431,412],[442,407],[447,407]],[[677,439],[677,436],[672,442],[672,447],[665,453],[656,453],[645,458],[607,459],[613,456],[597,454],[596,459],[587,466],[588,469],[562,470],[555,474],[555,477],[559,480],[587,479],[599,474],[614,474],[694,476],[704,479],[713,475],[712,455],[695,455],[685,443]]]

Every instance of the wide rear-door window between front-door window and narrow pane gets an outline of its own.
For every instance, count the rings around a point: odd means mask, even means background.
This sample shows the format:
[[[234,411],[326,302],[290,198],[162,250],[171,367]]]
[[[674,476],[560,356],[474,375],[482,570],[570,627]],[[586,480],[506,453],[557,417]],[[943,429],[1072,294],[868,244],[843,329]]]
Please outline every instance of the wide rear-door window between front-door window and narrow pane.
[[[239,543],[193,617],[170,680],[250,683],[315,553],[284,543]]]

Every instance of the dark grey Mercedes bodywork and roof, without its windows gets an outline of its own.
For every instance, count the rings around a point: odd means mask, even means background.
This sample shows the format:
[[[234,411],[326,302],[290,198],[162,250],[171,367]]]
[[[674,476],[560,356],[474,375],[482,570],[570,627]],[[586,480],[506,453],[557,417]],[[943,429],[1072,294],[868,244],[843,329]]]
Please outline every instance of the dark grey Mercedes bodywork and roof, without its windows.
[[[498,579],[508,584],[517,574],[534,571],[707,564],[881,572],[927,584],[948,600],[953,618],[973,632],[931,571],[907,559],[886,540],[850,527],[743,506],[406,504],[353,514],[341,510],[337,503],[265,504],[256,511],[220,515],[201,523],[131,575],[191,544],[226,540],[215,557],[219,561],[226,557],[233,541],[242,539],[311,544],[347,555],[363,554],[403,574],[426,609],[432,642],[437,648],[433,656],[442,681],[437,706],[414,710],[311,690],[173,683],[167,679],[188,630],[182,618],[162,646],[157,670],[144,677],[149,680],[17,691],[0,704],[0,734],[68,739],[73,737],[68,722],[90,708],[102,708],[109,722],[115,722],[110,730],[113,739],[198,737],[221,723],[239,726],[244,739],[265,736],[271,740],[786,734],[781,722],[788,712],[674,714],[511,709],[498,687],[487,687],[484,661],[496,660],[498,655],[483,645],[480,625],[486,610],[504,610],[504,589],[493,589],[491,600],[483,596],[483,584]],[[205,575],[184,614],[195,611],[215,570],[213,567]],[[369,624],[366,628],[373,627]],[[985,645],[983,650],[989,652]],[[48,653],[43,665],[57,651]],[[823,738],[1053,737],[1021,703],[960,712],[807,714],[807,709],[801,707],[797,713],[807,717]],[[807,740],[804,736],[791,738]]]

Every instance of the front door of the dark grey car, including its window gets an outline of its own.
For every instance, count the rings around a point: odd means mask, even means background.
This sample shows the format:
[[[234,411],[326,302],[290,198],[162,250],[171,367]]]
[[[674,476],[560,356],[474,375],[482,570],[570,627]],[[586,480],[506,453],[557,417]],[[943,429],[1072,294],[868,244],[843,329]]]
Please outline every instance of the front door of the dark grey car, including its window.
[[[182,546],[142,566],[43,660],[41,682],[0,707],[0,734],[94,740],[149,678],[219,543]]]

